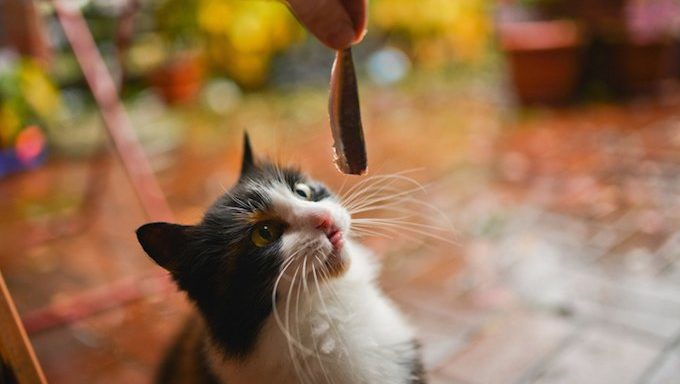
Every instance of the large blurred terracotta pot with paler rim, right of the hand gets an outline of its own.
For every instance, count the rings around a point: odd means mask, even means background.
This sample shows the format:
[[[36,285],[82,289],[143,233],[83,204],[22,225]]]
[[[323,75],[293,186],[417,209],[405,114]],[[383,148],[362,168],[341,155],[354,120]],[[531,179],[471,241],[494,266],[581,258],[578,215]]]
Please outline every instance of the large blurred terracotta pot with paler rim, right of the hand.
[[[508,22],[501,24],[498,32],[512,85],[522,103],[554,104],[571,98],[583,43],[574,22]]]

